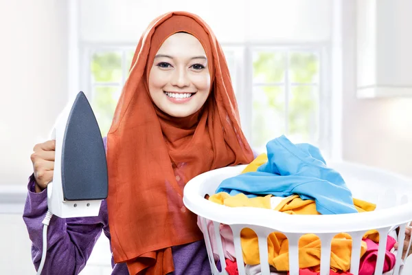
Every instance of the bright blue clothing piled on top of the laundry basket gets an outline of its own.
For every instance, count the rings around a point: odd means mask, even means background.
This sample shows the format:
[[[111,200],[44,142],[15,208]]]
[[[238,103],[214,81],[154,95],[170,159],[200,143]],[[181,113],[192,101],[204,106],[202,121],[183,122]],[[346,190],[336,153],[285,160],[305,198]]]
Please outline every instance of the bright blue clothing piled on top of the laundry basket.
[[[352,192],[341,175],[328,168],[319,149],[310,144],[293,144],[282,135],[266,144],[268,162],[256,172],[222,181],[216,193],[244,193],[248,197],[274,195],[316,202],[321,214],[356,213]]]

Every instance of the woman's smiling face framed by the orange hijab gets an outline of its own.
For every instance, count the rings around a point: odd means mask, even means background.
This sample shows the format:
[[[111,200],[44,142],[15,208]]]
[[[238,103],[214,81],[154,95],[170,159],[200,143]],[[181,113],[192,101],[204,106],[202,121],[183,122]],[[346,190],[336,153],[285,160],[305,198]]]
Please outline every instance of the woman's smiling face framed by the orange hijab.
[[[149,74],[153,102],[175,118],[196,113],[209,96],[210,74],[202,44],[191,34],[169,36]]]

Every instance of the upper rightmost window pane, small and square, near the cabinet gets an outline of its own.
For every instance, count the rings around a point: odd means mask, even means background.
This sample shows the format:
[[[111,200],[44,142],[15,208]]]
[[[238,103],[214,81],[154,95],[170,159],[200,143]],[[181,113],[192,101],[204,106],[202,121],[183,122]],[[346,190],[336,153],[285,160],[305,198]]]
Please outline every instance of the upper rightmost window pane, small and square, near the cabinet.
[[[319,57],[310,52],[290,52],[289,73],[293,83],[318,83]]]

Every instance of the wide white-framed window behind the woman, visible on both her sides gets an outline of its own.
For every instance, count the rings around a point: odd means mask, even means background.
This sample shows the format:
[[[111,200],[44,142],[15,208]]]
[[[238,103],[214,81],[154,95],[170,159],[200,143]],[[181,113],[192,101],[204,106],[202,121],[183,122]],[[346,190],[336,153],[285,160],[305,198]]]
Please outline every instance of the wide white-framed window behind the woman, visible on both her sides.
[[[242,128],[255,151],[285,134],[293,142],[310,142],[328,155],[325,133],[328,96],[321,46],[288,47],[239,45],[222,47],[240,109]],[[106,135],[134,47],[106,47],[89,51],[91,102],[102,135]]]

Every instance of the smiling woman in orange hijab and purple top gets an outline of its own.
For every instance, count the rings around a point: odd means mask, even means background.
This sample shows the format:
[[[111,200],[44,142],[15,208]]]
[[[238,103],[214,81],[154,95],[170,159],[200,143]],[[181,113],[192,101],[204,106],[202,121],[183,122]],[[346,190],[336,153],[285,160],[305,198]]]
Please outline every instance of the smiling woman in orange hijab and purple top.
[[[225,56],[199,17],[165,14],[141,37],[106,155],[109,192],[100,215],[52,218],[47,274],[78,274],[102,229],[117,263],[112,261],[113,274],[210,274],[196,215],[183,205],[183,187],[208,170],[248,164],[253,153],[240,129]],[[23,218],[37,267],[54,141],[37,144],[32,162]]]

